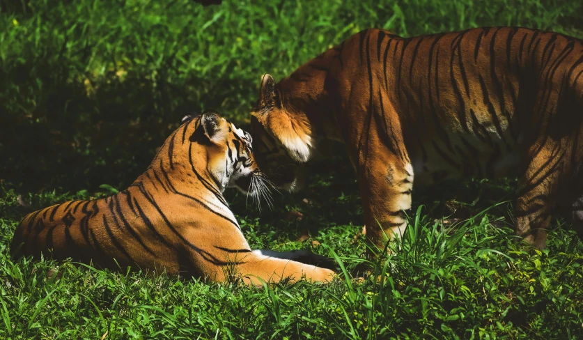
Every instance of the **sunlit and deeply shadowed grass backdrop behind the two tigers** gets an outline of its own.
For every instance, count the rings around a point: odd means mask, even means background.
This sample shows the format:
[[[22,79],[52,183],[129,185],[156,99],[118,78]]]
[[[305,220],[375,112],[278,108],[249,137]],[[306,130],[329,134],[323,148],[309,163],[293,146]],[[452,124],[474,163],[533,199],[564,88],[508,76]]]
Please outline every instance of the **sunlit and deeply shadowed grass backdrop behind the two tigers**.
[[[0,178],[23,190],[125,186],[183,115],[244,123],[264,72],[281,79],[367,27],[583,35],[583,4],[563,0],[0,3]]]

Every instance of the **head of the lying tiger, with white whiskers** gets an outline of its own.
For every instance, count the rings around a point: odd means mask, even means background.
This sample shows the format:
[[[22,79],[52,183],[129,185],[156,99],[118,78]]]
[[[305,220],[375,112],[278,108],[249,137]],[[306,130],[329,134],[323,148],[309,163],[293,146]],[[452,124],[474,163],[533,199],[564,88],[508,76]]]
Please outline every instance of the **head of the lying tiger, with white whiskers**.
[[[200,116],[185,116],[182,125],[185,129],[182,134],[189,136],[190,141],[188,162],[193,169],[205,164],[204,169],[194,169],[198,175],[210,175],[221,192],[226,187],[236,187],[244,194],[258,196],[266,189],[248,132],[214,110],[204,111]]]

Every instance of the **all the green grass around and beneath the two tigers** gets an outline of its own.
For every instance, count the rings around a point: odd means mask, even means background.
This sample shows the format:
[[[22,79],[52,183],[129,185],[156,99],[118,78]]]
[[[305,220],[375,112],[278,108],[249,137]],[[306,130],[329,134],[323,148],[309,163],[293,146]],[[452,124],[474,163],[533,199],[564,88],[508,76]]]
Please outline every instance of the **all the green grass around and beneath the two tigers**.
[[[513,180],[415,192],[401,250],[362,283],[256,289],[8,256],[27,212],[127,186],[183,114],[215,107],[245,125],[264,72],[281,79],[356,31],[518,24],[583,38],[582,3],[34,3],[0,3],[1,339],[583,338],[583,243],[557,217],[547,249],[518,247]],[[362,261],[362,206],[341,156],[272,211],[226,192],[252,247],[339,256],[348,272]]]

